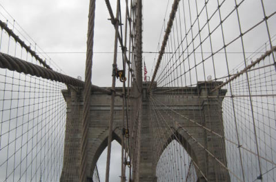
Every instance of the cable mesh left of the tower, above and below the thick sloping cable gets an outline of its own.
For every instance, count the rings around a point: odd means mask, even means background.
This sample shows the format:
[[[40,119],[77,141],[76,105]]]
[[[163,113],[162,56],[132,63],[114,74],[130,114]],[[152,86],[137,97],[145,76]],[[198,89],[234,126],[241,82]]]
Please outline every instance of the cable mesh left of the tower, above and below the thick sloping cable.
[[[31,50],[41,51],[4,9],[1,21]],[[6,30],[0,34],[1,52],[41,65]],[[66,125],[63,89],[63,83],[0,69],[0,181],[59,181]]]

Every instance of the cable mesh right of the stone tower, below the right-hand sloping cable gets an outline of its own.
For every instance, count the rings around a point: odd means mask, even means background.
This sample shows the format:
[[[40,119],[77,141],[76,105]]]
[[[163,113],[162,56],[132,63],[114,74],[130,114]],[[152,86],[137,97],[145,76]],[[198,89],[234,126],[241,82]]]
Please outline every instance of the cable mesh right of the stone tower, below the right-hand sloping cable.
[[[259,156],[263,174],[263,181],[275,180],[275,67],[267,66],[271,64],[272,57],[267,57],[253,70],[249,70],[248,79],[250,85],[250,94],[252,99],[252,108],[250,97],[248,95],[248,83],[246,75],[241,75],[228,85],[225,89],[230,90],[232,86],[233,94],[226,94],[223,102],[223,120],[226,138],[237,142],[236,133],[239,133],[239,140],[244,148],[249,149],[255,154],[241,150],[242,161],[244,163],[244,175],[247,181],[255,181],[256,174],[259,174],[258,157],[256,150],[256,138],[259,144]],[[265,67],[266,66],[266,67]],[[234,106],[234,107],[233,107]],[[234,116],[235,110],[235,116]],[[253,125],[255,121],[255,129]],[[237,131],[233,130],[237,121]],[[234,172],[239,174],[242,169],[239,163],[237,149],[234,145],[226,143],[228,150],[228,165],[233,168]]]

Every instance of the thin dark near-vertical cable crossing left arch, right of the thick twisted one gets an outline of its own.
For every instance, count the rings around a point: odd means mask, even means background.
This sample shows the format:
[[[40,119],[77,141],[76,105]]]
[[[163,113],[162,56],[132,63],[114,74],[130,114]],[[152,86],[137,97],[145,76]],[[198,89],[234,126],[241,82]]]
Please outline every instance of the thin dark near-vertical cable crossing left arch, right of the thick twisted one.
[[[110,103],[110,122],[108,131],[108,155],[106,160],[106,182],[109,181],[109,169],[110,169],[110,152],[111,152],[111,141],[112,141],[112,127],[113,127],[113,117],[114,117],[114,102],[115,102],[115,85],[116,85],[116,68],[117,68],[117,48],[118,48],[118,34],[119,34],[119,0],[117,1],[117,12],[115,19],[115,45],[114,45],[114,59],[112,65],[112,94]]]

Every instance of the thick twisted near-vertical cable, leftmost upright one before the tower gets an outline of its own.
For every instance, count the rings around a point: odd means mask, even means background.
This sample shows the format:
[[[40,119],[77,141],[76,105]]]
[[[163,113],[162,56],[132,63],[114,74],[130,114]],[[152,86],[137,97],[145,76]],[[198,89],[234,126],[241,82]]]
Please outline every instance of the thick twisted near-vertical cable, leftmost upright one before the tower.
[[[94,45],[94,26],[95,26],[95,1],[90,0],[88,15],[88,41],[86,52],[86,75],[83,92],[83,123],[81,137],[81,166],[79,181],[84,182],[87,179],[87,145],[88,145],[88,123],[90,121],[90,94],[91,94],[91,78],[92,78],[92,56]]]

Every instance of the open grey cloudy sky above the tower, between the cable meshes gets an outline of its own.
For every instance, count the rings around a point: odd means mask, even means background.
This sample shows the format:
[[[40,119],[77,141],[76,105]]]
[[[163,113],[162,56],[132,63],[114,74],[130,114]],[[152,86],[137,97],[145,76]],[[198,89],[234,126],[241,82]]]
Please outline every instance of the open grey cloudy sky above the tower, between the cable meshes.
[[[48,55],[66,74],[71,77],[81,76],[84,79],[86,54],[83,52],[86,52],[88,0],[1,0],[0,2],[44,52],[81,52]],[[116,2],[110,2],[115,12]],[[146,51],[156,51],[167,3],[168,1],[145,3],[144,12],[147,18],[144,21],[144,50]],[[124,7],[123,3],[122,6]],[[113,51],[114,28],[108,18],[104,1],[97,1],[94,51],[108,53],[94,54],[92,83],[101,86],[111,85],[112,53],[109,52]],[[144,57],[148,70],[151,70],[152,55],[145,54]]]

